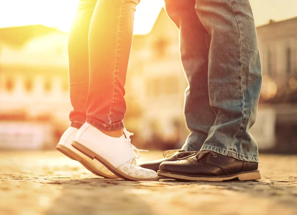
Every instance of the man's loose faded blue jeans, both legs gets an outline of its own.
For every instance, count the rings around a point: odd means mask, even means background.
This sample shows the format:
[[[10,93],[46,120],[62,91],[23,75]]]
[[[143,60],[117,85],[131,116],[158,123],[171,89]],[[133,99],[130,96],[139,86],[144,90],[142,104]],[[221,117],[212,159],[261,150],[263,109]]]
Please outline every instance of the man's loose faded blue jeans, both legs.
[[[210,150],[258,162],[249,133],[261,88],[261,65],[248,0],[165,0],[180,31],[189,86],[184,150]]]

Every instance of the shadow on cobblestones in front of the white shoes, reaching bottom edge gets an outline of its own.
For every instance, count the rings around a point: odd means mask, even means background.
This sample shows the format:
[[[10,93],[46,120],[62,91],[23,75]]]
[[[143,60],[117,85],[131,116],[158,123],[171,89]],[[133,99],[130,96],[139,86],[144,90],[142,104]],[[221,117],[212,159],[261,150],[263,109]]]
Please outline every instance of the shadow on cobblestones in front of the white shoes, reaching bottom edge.
[[[50,182],[61,186],[46,215],[153,215],[138,198],[141,182],[88,178]],[[148,194],[148,193],[147,193]]]

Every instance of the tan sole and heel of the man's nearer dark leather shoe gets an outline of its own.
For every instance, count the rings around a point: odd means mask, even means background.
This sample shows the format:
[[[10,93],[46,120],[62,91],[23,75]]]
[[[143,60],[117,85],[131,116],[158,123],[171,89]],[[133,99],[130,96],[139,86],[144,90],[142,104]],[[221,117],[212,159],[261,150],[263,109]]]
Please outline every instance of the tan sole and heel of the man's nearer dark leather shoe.
[[[220,181],[227,181],[232,179],[238,179],[240,181],[253,181],[258,180],[261,178],[260,171],[249,171],[244,173],[237,173],[233,175],[228,176],[218,176],[218,177],[203,177],[203,176],[189,176],[189,175],[180,175],[173,172],[167,172],[158,170],[158,175],[163,176],[166,178],[173,178],[173,179],[180,179],[180,180],[186,180],[186,181],[212,181],[212,182],[220,182]]]

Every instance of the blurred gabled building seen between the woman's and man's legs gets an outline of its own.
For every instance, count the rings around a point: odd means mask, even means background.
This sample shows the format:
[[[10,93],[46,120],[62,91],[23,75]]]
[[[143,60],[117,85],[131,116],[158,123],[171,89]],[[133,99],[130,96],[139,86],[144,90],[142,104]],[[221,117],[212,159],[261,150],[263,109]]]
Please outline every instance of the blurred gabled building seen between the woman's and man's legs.
[[[178,31],[161,10],[150,33],[133,38],[126,88],[142,109],[131,127],[140,129],[149,146],[172,149],[184,143],[189,133],[183,115],[186,87]]]

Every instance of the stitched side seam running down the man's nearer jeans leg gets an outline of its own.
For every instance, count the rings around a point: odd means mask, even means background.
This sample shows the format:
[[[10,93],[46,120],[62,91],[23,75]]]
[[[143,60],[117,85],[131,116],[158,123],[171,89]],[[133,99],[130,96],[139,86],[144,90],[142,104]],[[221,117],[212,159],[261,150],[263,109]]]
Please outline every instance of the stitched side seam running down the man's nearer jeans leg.
[[[244,98],[244,91],[243,91],[243,58],[242,58],[242,38],[241,38],[241,29],[240,29],[240,24],[239,24],[239,20],[235,14],[235,11],[234,11],[234,8],[232,6],[232,2],[231,0],[228,0],[229,3],[230,3],[230,6],[232,8],[232,12],[233,12],[233,15],[236,19],[236,22],[237,22],[237,26],[238,26],[238,34],[239,34],[239,44],[240,44],[240,69],[241,69],[241,91],[242,91],[242,111],[243,111],[243,117],[239,123],[239,126],[238,126],[238,129],[235,133],[235,136],[234,136],[234,140],[233,140],[233,145],[232,145],[232,149],[234,149],[234,145],[235,145],[235,141],[237,139],[237,135],[238,135],[238,132],[240,130],[240,127],[244,121],[244,118],[245,118],[245,98]]]

